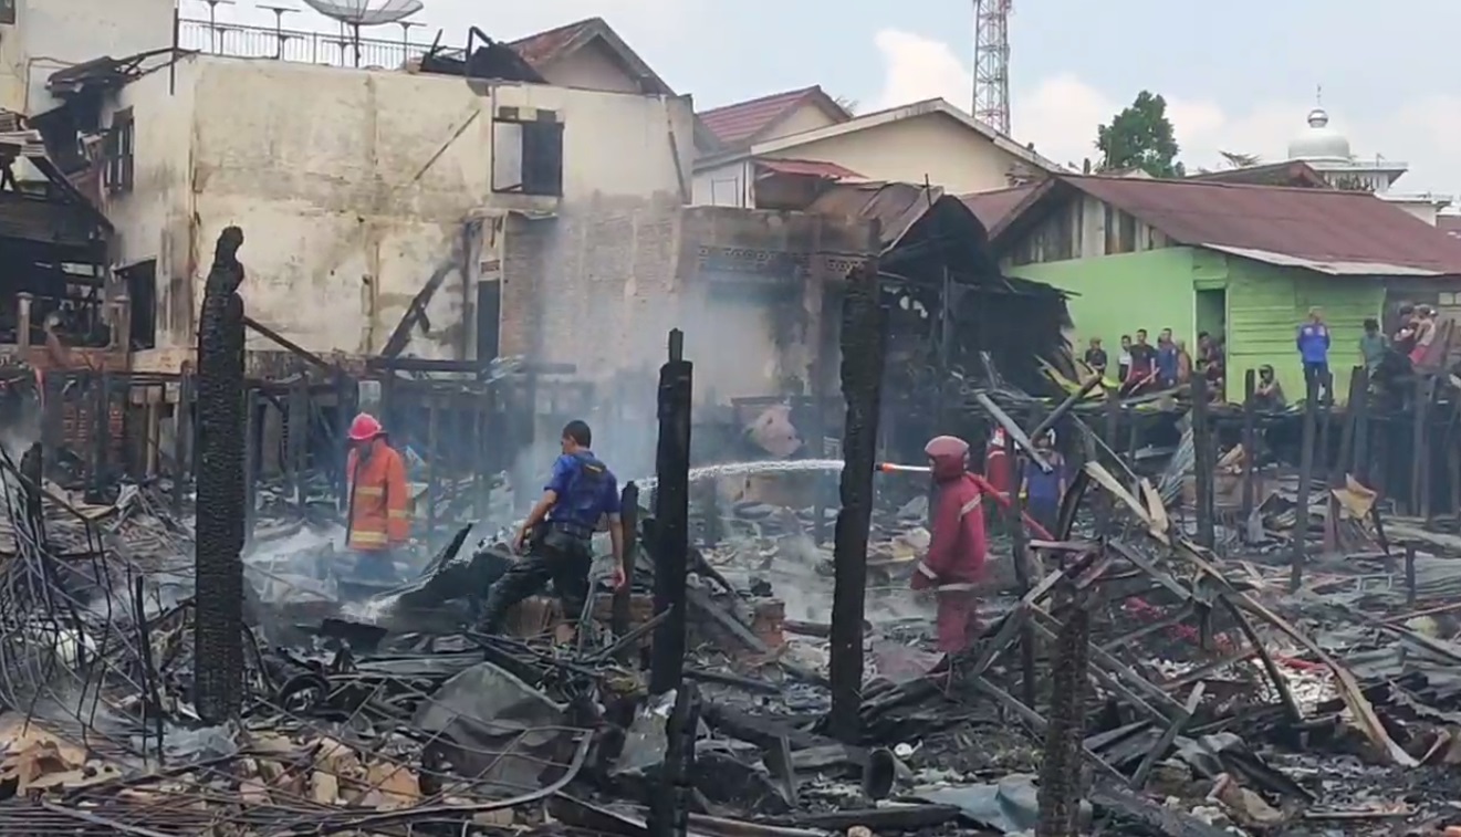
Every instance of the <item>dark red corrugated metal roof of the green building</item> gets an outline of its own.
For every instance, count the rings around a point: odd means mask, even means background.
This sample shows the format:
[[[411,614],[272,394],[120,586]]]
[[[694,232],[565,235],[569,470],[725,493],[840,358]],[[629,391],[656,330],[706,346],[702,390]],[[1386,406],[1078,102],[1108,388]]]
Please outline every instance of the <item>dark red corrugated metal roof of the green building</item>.
[[[1461,275],[1461,242],[1369,193],[1191,180],[1059,180],[1178,244]]]

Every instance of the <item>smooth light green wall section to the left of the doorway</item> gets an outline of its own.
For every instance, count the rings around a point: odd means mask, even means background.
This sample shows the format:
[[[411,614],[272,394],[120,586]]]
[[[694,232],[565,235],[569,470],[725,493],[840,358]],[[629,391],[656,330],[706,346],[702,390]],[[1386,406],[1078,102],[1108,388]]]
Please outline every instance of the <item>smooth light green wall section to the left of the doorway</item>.
[[[1078,352],[1100,337],[1116,362],[1122,335],[1145,329],[1151,342],[1172,329],[1178,339],[1197,345],[1197,302],[1191,247],[1099,256],[1043,264],[1007,267],[1012,276],[1034,279],[1078,294],[1069,301]],[[1221,285],[1218,285],[1221,286]]]

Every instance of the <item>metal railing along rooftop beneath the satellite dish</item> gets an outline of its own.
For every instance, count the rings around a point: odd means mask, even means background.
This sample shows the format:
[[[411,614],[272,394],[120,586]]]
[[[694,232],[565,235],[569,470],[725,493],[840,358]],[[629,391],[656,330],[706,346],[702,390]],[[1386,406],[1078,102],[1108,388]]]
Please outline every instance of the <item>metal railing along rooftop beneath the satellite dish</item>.
[[[351,34],[308,32],[241,23],[178,22],[178,48],[235,58],[273,58],[332,67],[381,67],[394,70],[419,58],[430,44],[402,38],[359,38]]]

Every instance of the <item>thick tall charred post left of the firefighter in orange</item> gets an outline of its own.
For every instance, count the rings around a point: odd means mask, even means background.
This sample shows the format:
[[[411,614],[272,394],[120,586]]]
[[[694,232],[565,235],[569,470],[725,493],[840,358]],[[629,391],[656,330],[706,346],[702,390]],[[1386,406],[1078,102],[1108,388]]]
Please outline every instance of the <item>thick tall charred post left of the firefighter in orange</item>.
[[[238,717],[244,687],[244,234],[218,237],[199,320],[196,703],[207,723]]]

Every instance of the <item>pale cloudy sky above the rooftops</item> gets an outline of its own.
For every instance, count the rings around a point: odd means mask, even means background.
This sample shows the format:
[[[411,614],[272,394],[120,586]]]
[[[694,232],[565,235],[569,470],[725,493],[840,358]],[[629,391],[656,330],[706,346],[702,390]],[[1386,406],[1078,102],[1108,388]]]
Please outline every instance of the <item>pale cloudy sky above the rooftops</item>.
[[[219,18],[272,23],[254,1]],[[446,28],[447,42],[470,23],[513,38],[602,16],[698,107],[820,83],[865,110],[929,96],[969,108],[972,0],[424,1],[416,19]],[[206,16],[200,0],[183,3]],[[316,20],[286,25],[324,28]],[[1454,0],[1015,0],[1012,133],[1080,162],[1096,124],[1145,88],[1172,102],[1188,165],[1216,165],[1217,150],[1274,161],[1322,85],[1357,156],[1411,164],[1397,190],[1461,196],[1457,32]]]

